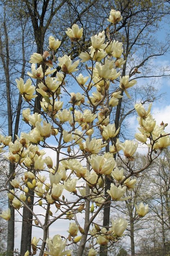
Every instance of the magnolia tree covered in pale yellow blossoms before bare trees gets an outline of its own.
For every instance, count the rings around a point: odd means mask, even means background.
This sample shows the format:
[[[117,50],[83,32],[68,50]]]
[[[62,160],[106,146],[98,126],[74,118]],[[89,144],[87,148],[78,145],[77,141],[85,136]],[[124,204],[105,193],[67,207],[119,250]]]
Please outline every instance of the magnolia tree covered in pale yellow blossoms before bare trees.
[[[121,19],[120,12],[112,9],[107,20],[116,27]],[[115,202],[117,205],[117,201],[127,200],[129,196],[124,197],[125,192],[135,187],[136,178],[133,176],[137,177],[163,148],[170,145],[169,134],[164,131],[166,124],[157,126],[151,115],[151,105],[145,110],[141,103],[135,104],[140,126],[140,133],[135,134],[136,140],[120,142],[118,139],[120,127],[117,129],[114,123],[109,122],[110,113],[124,97],[124,92],[125,97],[130,97],[127,90],[136,81],[129,80],[128,75],[120,77],[125,63],[121,58],[123,44],[110,38],[109,29],[106,31],[107,38],[105,31],[91,37],[89,51],[81,45],[83,28],[79,29],[74,24],[72,29],[66,31],[72,43],[81,48],[79,58],[86,63],[87,77],[75,75],[79,60],[72,62],[70,56],[64,55],[56,61],[55,55],[61,42],[50,36],[48,51],[43,55],[33,53],[29,61],[32,65],[28,75],[37,79],[37,87],[32,85],[31,79],[25,83],[22,78],[16,79],[19,92],[28,103],[22,115],[30,131],[22,133],[20,138],[16,135],[14,143],[10,136],[1,136],[0,149],[1,153],[9,149],[8,158],[15,164],[14,173],[8,176],[3,188],[8,191],[10,204],[20,214],[22,207],[31,211],[35,226],[41,228],[43,233],[41,240],[39,237],[32,238],[32,252],[26,251],[25,256],[36,253],[41,256],[72,255],[73,243],[78,243],[79,256],[83,255],[87,245],[89,256],[97,255],[102,248],[111,247],[121,239],[128,222],[118,218],[104,227],[97,223],[98,214],[105,204]],[[60,67],[59,72],[53,69],[55,64]],[[77,84],[72,88],[74,92],[70,92],[67,85],[70,78],[72,83]],[[119,87],[116,87],[115,80],[120,81]],[[42,96],[41,111],[31,113],[37,94]],[[65,103],[62,101],[64,97]],[[148,146],[146,164],[142,169],[133,168],[138,141]],[[50,156],[45,156],[43,148],[54,152],[55,164]],[[116,166],[115,155],[119,157],[119,162],[122,161],[124,169]],[[22,177],[19,166],[23,168]],[[107,193],[106,177],[111,181]],[[14,189],[8,189],[9,182]],[[34,208],[28,207],[30,191],[34,192]],[[37,208],[41,214],[36,213]],[[136,210],[141,217],[148,212],[148,206],[139,204]],[[81,225],[77,218],[79,214],[83,219]],[[0,216],[10,220],[10,209]],[[60,219],[67,219],[66,223],[70,221],[66,227],[67,237],[57,234]],[[54,222],[56,235],[49,238],[48,230]]]

